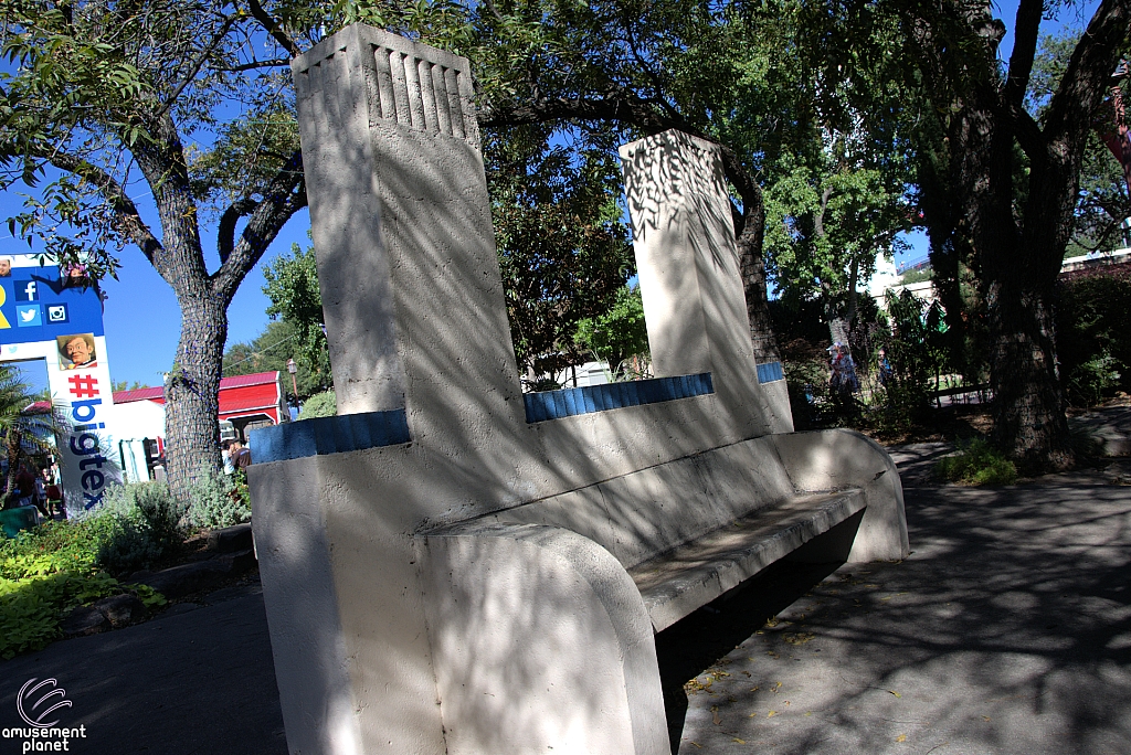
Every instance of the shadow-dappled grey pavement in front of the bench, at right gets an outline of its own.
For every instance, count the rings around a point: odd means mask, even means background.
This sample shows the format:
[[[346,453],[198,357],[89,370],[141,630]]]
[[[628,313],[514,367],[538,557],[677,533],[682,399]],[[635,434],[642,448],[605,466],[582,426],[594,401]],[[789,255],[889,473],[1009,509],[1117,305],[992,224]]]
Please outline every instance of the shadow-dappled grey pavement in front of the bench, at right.
[[[662,666],[728,622],[746,637],[697,677],[679,752],[1128,752],[1131,487],[1056,481],[908,488],[903,563],[844,566],[784,610],[716,604],[658,637]],[[744,635],[743,613],[777,622]]]

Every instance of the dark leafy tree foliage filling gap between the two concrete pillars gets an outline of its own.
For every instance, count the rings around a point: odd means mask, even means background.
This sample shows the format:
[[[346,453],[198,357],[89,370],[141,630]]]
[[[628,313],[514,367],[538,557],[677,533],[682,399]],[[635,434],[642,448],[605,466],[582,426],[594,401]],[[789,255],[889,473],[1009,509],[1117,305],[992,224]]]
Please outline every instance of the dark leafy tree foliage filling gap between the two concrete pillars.
[[[604,150],[551,146],[537,129],[489,139],[484,157],[520,371],[584,364],[578,324],[615,306],[634,270],[618,165]]]

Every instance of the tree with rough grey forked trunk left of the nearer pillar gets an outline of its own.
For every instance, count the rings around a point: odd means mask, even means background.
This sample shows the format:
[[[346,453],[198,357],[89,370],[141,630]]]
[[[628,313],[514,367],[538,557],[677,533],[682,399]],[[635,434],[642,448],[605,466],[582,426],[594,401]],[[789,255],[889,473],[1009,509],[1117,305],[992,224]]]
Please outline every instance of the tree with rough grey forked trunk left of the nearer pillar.
[[[274,14],[274,15],[273,15]],[[170,483],[219,468],[227,306],[307,203],[288,58],[343,24],[458,35],[447,3],[9,0],[0,10],[0,186],[34,190],[10,227],[62,264],[113,275],[137,246],[173,288]],[[222,118],[226,118],[223,121]],[[144,185],[154,217],[131,199]],[[201,224],[215,224],[216,258]]]

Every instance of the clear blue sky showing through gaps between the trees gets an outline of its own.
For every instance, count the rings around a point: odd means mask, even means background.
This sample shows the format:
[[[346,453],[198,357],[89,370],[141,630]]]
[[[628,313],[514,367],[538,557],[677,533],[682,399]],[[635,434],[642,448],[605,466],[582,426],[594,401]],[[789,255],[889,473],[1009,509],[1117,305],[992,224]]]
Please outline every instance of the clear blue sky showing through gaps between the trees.
[[[1053,32],[1062,26],[1080,27],[1090,18],[1097,6],[1098,2],[1091,0],[1079,9],[1069,8],[1062,11],[1060,18],[1046,21],[1045,31]],[[1017,3],[1002,2],[998,5],[998,9],[1007,27],[1011,29]],[[1004,40],[1003,54],[1008,55],[1011,47],[1010,32]],[[138,191],[144,192],[144,189]],[[145,196],[135,199],[144,208],[143,212],[153,218],[153,208],[147,205]],[[3,217],[17,212],[18,207],[19,199],[14,192],[0,197],[0,215]],[[291,219],[264,254],[264,261],[290,251],[292,243],[301,245],[309,243],[307,236],[309,227],[310,218],[304,210]],[[210,228],[207,225],[201,231],[205,234],[209,269],[215,269],[218,266],[215,236],[209,235]],[[906,254],[907,258],[915,259],[926,254],[924,234],[913,234],[909,241],[913,250]],[[7,228],[0,231],[0,254],[26,252],[27,245],[23,241],[12,238]],[[172,364],[180,335],[180,311],[176,300],[172,288],[161,279],[139,251],[129,248],[123,252],[121,260],[119,280],[107,280],[103,286],[107,295],[104,319],[111,378],[114,381],[129,383],[137,381],[145,385],[159,385],[162,373]],[[262,272],[257,268],[236,293],[228,310],[228,345],[249,341],[266,327],[268,320],[266,309],[269,302],[261,290],[264,283]],[[26,375],[36,388],[42,388],[46,383],[46,373],[37,365],[28,365]]]

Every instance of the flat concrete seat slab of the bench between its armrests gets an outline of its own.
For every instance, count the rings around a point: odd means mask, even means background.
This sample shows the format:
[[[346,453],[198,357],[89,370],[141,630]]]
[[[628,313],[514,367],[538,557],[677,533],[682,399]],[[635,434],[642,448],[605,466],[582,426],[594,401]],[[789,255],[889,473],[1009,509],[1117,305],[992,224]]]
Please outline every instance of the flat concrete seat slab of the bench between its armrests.
[[[865,505],[860,489],[798,494],[649,558],[629,575],[661,632]]]

